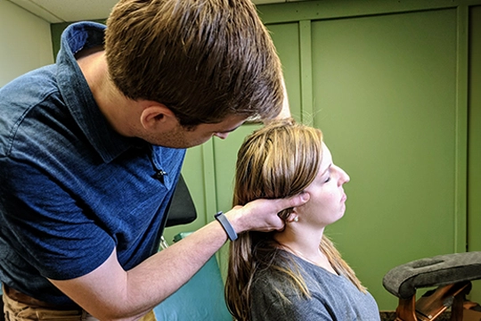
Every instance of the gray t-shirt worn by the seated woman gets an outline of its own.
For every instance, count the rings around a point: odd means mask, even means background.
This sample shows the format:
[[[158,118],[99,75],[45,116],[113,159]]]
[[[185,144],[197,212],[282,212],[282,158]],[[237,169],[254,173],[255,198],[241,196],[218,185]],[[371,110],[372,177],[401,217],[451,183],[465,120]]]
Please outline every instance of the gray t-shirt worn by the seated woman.
[[[378,321],[379,309],[369,292],[359,291],[345,276],[334,275],[296,259],[312,298],[299,297],[285,275],[263,271],[252,289],[252,321]],[[283,297],[289,299],[285,300]]]

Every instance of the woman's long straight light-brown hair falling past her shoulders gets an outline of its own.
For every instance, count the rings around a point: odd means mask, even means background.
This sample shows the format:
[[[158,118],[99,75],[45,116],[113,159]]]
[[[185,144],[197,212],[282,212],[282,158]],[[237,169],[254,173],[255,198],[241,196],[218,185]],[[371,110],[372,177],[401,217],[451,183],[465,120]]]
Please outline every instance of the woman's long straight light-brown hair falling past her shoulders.
[[[240,146],[233,204],[301,193],[314,181],[321,161],[321,130],[297,124],[293,119],[273,121],[248,136]],[[279,216],[286,219],[291,210],[283,210]],[[225,299],[232,316],[238,320],[249,320],[250,292],[260,270],[285,275],[299,295],[310,297],[300,267],[287,252],[281,251],[281,244],[273,239],[274,233],[250,231],[230,244]],[[365,292],[354,271],[326,236],[322,236],[320,249],[339,275],[346,276]]]

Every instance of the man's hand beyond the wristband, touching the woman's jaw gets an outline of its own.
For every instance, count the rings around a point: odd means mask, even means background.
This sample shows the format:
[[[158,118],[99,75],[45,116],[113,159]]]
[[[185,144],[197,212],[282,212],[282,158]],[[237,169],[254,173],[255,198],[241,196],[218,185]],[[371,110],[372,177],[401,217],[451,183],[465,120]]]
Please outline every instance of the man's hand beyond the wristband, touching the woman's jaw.
[[[256,200],[244,206],[235,206],[225,213],[235,232],[240,234],[249,230],[270,232],[282,230],[284,221],[277,216],[281,210],[298,207],[309,201],[308,193],[300,193],[285,199]]]

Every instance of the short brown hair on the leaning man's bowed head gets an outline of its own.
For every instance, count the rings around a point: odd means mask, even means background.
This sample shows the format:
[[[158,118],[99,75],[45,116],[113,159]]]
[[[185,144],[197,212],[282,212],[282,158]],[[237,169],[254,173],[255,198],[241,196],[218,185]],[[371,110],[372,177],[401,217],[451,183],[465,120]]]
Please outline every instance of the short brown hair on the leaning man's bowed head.
[[[120,0],[105,34],[110,78],[181,125],[281,111],[281,62],[251,0]]]

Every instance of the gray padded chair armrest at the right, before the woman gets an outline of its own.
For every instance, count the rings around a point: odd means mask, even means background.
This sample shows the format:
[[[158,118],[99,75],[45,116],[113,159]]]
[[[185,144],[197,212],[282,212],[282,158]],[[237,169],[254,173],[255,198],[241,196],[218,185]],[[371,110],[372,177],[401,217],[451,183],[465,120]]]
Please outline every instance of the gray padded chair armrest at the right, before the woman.
[[[481,251],[417,259],[391,269],[382,284],[396,297],[409,299],[416,294],[416,288],[477,279],[481,279]]]

